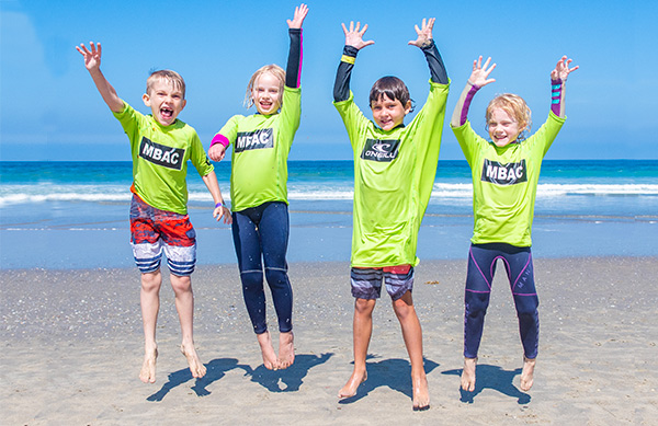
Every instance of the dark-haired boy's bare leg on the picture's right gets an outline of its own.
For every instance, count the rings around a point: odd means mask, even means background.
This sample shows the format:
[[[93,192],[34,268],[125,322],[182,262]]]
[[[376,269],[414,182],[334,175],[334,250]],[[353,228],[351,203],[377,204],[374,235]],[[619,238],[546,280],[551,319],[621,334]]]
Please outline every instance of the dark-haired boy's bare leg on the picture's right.
[[[402,337],[411,360],[411,383],[413,387],[413,410],[430,407],[430,390],[422,359],[422,329],[413,308],[411,291],[393,302],[393,309],[402,329]]]

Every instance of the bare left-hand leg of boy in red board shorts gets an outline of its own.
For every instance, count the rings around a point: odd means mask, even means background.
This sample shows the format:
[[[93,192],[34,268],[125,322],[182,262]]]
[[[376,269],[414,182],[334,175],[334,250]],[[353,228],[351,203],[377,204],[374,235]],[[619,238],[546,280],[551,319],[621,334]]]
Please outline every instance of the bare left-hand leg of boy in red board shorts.
[[[141,274],[141,290],[139,300],[141,304],[141,322],[144,324],[144,364],[139,371],[139,379],[145,383],[156,381],[156,359],[158,358],[158,344],[156,343],[156,324],[160,309],[160,285],[162,275],[160,269]]]

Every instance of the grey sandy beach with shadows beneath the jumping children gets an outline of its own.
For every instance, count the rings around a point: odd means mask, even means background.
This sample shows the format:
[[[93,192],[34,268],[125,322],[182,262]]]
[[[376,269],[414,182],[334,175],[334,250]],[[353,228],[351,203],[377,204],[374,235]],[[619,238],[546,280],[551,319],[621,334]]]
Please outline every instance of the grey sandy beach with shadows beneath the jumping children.
[[[178,349],[167,280],[155,384],[137,377],[136,269],[2,270],[1,423],[658,424],[657,257],[535,260],[542,325],[529,392],[519,389],[522,352],[501,265],[477,388],[460,391],[465,270],[465,260],[417,267],[413,297],[431,394],[431,408],[420,413],[411,410],[410,365],[387,297],[375,309],[368,380],[355,398],[336,396],[352,368],[348,264],[291,265],[297,357],[282,371],[262,366],[236,265],[198,267],[195,341],[207,367],[201,380]]]

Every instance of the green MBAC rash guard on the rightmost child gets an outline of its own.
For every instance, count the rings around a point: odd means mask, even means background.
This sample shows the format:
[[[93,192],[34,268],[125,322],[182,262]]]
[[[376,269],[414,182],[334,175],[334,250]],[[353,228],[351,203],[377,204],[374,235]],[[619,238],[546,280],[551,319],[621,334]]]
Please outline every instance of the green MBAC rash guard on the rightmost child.
[[[551,112],[536,134],[503,148],[479,137],[468,122],[453,127],[473,174],[474,244],[532,245],[542,160],[564,123]]]

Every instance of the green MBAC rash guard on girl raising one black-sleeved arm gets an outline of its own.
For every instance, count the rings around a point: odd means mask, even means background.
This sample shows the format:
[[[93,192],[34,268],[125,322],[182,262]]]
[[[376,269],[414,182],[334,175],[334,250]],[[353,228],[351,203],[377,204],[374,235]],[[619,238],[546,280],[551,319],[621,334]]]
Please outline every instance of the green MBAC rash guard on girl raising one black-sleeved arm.
[[[235,115],[218,134],[232,143],[230,203],[242,211],[266,202],[287,204],[287,157],[302,115],[302,90],[283,89],[281,113]]]

